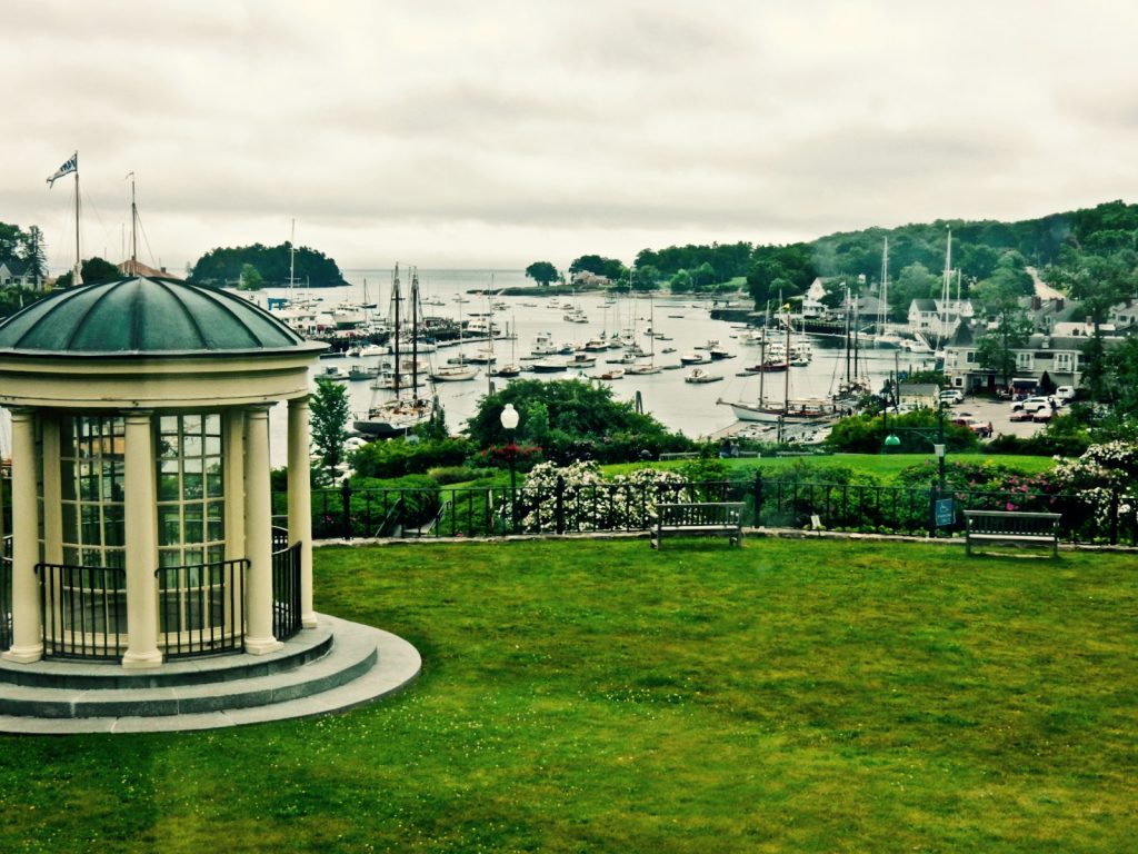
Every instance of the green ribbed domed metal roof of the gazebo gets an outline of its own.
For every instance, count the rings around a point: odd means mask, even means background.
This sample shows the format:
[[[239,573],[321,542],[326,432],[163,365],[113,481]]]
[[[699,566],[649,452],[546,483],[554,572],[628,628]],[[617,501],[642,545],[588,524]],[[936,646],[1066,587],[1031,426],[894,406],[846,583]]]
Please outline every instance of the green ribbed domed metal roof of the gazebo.
[[[145,277],[61,290],[0,323],[0,352],[196,355],[322,347],[233,294]]]

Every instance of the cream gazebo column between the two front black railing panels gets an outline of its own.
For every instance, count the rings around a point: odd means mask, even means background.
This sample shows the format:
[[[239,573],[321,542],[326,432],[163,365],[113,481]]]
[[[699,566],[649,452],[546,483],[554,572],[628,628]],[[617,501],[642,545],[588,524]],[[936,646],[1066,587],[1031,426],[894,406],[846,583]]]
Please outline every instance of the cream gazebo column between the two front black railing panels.
[[[158,650],[158,495],[155,484],[150,412],[126,416],[123,514],[126,539],[126,632],[123,667],[157,667]]]

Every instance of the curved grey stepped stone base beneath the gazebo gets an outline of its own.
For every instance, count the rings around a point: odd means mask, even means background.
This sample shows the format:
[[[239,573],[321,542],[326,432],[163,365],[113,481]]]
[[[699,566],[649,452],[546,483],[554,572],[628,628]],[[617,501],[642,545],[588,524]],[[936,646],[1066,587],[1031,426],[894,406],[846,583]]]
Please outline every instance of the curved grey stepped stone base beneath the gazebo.
[[[228,656],[208,659],[207,678],[185,662],[179,663],[188,666],[184,680],[167,665],[163,671],[170,680],[139,688],[122,687],[123,671],[114,665],[13,665],[25,675],[22,684],[0,678],[0,707],[16,712],[0,714],[0,732],[170,732],[310,717],[398,691],[422,666],[418,650],[402,638],[327,615],[320,615],[318,630],[300,632],[289,646],[299,648],[295,667],[247,675],[249,657]],[[319,657],[304,651],[325,646]],[[53,680],[58,687],[44,684]],[[98,687],[102,680],[114,687]]]

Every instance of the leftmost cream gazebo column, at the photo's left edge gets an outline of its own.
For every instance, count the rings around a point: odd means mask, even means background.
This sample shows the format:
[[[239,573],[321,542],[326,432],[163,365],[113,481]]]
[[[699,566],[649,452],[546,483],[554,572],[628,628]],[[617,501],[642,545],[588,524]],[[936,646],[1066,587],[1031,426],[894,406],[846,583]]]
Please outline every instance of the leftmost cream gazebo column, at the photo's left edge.
[[[11,648],[9,662],[31,664],[43,657],[40,614],[40,502],[35,494],[35,412],[11,410]]]

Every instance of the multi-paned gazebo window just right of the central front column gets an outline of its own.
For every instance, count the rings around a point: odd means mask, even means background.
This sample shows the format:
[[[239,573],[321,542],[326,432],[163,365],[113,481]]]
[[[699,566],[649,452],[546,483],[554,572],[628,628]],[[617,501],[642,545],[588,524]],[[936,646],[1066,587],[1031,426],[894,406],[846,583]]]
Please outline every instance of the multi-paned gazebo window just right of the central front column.
[[[222,417],[162,416],[157,457],[162,630],[223,625]]]

